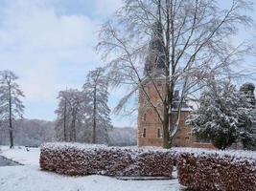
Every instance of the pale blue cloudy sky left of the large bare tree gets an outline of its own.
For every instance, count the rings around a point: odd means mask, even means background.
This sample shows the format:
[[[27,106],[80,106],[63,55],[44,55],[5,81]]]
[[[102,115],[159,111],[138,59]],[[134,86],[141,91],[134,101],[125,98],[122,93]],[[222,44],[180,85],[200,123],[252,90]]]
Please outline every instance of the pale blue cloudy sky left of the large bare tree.
[[[0,70],[20,77],[25,117],[55,119],[58,91],[81,89],[87,72],[103,66],[94,52],[97,31],[120,5],[121,0],[0,0]],[[111,108],[120,96],[111,94]],[[112,118],[116,126],[135,124]]]

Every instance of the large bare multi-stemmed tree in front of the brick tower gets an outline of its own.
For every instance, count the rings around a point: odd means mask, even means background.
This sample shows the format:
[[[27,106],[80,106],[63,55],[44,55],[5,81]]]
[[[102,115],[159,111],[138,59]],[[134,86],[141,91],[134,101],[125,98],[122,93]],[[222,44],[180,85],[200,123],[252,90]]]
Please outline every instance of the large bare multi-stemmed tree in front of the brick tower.
[[[251,7],[244,0],[232,0],[229,9],[222,9],[215,0],[125,0],[102,27],[98,44],[108,61],[112,84],[130,86],[116,111],[122,111],[140,90],[161,121],[164,147],[171,147],[183,100],[209,78],[231,73],[230,64],[241,61],[248,51],[244,43],[234,46],[231,42],[241,26],[252,23],[243,14]],[[155,85],[159,79],[164,81],[164,91]],[[147,81],[160,97],[160,108],[145,89]],[[176,88],[181,90],[180,104],[175,127],[170,128]]]

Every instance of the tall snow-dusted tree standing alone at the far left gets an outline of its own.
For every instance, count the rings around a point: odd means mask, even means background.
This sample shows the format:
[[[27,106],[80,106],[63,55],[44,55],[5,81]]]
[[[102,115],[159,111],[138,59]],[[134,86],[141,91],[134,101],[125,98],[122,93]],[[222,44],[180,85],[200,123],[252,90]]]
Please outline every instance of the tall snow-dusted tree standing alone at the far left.
[[[22,118],[24,113],[24,105],[20,100],[24,95],[15,82],[17,79],[11,71],[0,72],[0,118],[9,127],[10,148],[13,147],[13,121]]]

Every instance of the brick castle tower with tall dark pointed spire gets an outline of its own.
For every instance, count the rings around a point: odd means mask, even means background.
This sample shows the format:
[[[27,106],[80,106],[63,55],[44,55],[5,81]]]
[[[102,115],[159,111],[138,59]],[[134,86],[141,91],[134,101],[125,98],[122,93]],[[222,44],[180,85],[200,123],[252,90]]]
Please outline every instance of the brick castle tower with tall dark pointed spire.
[[[138,146],[162,146],[162,124],[151,103],[161,111],[160,96],[164,93],[165,53],[163,47],[163,31],[161,24],[156,22],[152,26],[151,41],[145,62],[143,89],[139,88],[138,108]],[[153,79],[153,80],[152,80]],[[156,88],[157,89],[156,89]],[[147,97],[144,93],[147,93]]]

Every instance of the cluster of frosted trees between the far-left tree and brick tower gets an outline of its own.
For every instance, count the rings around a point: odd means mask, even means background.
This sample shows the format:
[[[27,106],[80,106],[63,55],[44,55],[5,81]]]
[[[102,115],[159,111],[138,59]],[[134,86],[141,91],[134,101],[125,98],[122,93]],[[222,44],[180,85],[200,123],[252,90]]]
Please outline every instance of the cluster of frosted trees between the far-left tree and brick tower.
[[[90,71],[82,90],[67,89],[58,94],[56,135],[60,141],[108,143],[112,128],[108,81],[103,68]]]

